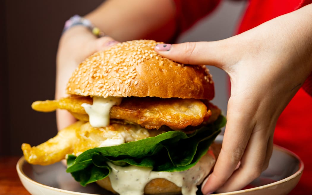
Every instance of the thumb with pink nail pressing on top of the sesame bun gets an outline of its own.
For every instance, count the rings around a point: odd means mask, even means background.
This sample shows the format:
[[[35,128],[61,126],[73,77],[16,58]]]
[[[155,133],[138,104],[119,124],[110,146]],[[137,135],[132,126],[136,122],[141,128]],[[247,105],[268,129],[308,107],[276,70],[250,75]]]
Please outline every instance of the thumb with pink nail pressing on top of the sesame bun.
[[[204,64],[222,68],[227,63],[224,40],[157,44],[155,51],[163,57],[183,64]]]

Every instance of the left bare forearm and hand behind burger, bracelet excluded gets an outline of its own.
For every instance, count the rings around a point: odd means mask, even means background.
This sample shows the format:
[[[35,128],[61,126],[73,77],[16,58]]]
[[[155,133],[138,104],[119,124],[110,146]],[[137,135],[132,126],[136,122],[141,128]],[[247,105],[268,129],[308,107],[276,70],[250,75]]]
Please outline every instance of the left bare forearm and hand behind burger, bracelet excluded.
[[[176,31],[175,6],[168,0],[107,0],[85,17],[119,41],[144,37],[169,40]],[[166,31],[163,31],[164,28]],[[57,52],[55,98],[66,96],[66,84],[81,61],[94,52],[116,43],[110,37],[96,38],[84,26],[78,25],[68,29],[61,37]],[[63,129],[75,121],[74,117],[64,110],[57,110],[56,120],[58,129]]]

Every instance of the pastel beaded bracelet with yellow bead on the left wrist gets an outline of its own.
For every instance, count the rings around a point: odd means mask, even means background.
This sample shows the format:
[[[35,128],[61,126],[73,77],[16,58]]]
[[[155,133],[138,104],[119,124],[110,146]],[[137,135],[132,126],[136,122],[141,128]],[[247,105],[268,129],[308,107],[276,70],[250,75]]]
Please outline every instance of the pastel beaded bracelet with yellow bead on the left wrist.
[[[72,16],[69,20],[67,20],[65,22],[65,26],[64,26],[64,29],[63,29],[63,33],[70,29],[71,27],[73,26],[76,26],[76,25],[82,25],[82,26],[85,26],[87,27],[91,32],[92,34],[94,34],[96,37],[103,37],[105,36],[105,33],[100,31],[100,29],[98,27],[95,27],[91,22],[90,20],[84,18],[84,17],[81,17],[79,15],[74,15]]]

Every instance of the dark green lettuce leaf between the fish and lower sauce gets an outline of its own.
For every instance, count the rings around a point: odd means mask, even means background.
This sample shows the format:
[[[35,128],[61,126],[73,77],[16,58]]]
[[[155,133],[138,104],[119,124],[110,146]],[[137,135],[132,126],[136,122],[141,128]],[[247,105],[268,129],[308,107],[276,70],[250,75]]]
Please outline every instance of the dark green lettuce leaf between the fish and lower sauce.
[[[85,186],[110,174],[107,161],[118,166],[152,167],[153,171],[185,171],[207,153],[225,123],[226,119],[220,115],[214,123],[192,134],[168,131],[118,146],[89,149],[78,157],[68,155],[66,172]]]

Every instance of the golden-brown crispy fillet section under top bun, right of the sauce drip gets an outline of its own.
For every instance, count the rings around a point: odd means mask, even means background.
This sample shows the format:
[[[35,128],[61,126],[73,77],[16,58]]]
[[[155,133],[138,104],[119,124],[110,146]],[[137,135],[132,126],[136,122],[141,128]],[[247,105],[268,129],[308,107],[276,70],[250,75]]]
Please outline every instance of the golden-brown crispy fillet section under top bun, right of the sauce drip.
[[[126,119],[147,129],[159,129],[162,125],[175,130],[197,126],[206,115],[207,107],[201,100],[180,98],[125,98],[110,110],[111,118]]]

